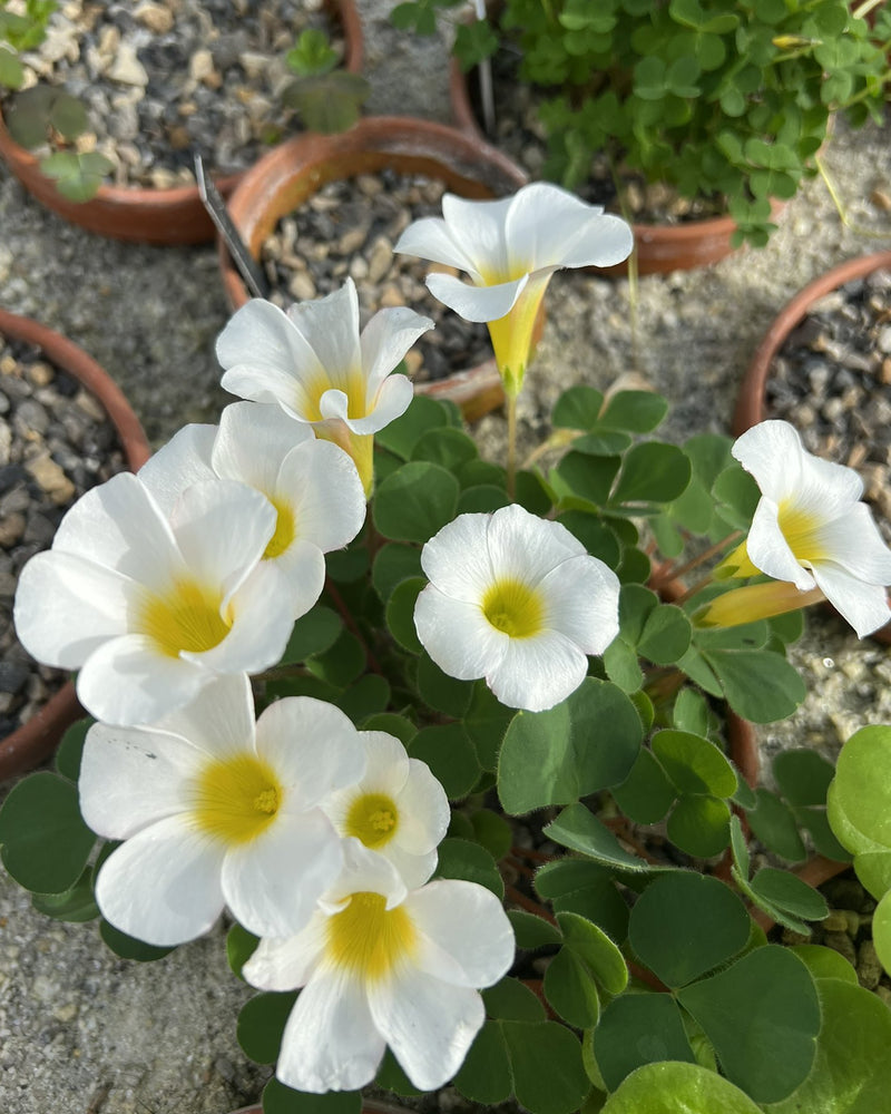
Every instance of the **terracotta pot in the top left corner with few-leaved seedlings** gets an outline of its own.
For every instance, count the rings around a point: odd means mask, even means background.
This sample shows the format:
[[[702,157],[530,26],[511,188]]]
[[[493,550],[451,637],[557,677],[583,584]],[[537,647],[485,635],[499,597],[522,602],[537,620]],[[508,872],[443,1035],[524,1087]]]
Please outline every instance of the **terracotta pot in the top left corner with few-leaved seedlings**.
[[[355,0],[325,0],[325,3],[343,27],[346,69],[359,74],[363,42]],[[36,156],[12,139],[1,115],[0,157],[47,208],[88,232],[144,244],[203,244],[212,241],[216,233],[196,185],[172,189],[104,185],[88,202],[68,201],[56,188],[56,183],[40,173]],[[242,176],[224,175],[215,179],[215,185],[226,197]]]

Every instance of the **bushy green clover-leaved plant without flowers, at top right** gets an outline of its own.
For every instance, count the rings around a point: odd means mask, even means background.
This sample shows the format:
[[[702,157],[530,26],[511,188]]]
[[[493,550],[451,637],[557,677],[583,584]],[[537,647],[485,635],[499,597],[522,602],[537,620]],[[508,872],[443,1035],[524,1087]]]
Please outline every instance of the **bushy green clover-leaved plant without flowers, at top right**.
[[[393,20],[430,30],[438,7]],[[763,245],[772,201],[816,173],[832,114],[882,119],[890,41],[885,7],[846,0],[506,0],[454,51],[464,69],[512,55],[540,90],[545,177],[581,188],[605,157],[619,180],[728,207],[735,242]]]

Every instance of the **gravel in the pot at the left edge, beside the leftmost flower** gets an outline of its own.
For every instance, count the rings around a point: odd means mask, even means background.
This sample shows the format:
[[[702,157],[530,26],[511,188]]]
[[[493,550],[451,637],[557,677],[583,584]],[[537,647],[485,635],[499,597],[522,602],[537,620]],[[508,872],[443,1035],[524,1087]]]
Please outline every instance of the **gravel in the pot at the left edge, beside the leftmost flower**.
[[[39,665],[12,626],[19,571],[49,548],[62,515],[88,488],[126,467],[114,426],[92,394],[0,336],[0,739],[67,680]]]

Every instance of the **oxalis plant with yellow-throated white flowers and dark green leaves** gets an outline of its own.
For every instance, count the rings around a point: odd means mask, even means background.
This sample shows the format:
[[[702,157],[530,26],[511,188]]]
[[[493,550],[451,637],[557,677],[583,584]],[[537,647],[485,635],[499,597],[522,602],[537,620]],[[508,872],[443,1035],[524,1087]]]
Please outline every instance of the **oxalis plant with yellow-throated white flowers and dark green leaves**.
[[[360,332],[350,281],[239,310],[217,353],[243,401],[21,573],[19,637],[90,719],[9,793],[7,870],[134,959],[225,916],[267,1114],[447,1084],[532,1114],[875,1114],[887,1006],[765,926],[826,916],[787,869],[805,846],[853,859],[891,964],[891,727],[838,772],[783,754],[771,793],[727,746],[803,698],[802,607],[889,620],[859,478],[784,422],[677,446],[663,399],[585,385],[520,463],[548,281],[620,262],[628,226],[533,184],[446,195],[395,250],[468,276],[428,285],[489,324],[505,465],[399,373],[427,317]]]

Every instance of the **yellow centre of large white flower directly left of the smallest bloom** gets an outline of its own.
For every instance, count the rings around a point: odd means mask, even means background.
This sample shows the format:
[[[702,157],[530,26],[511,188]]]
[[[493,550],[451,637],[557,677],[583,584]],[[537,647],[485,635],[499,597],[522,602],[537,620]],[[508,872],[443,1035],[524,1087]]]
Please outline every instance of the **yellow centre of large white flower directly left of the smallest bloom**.
[[[195,786],[193,818],[224,843],[248,843],[275,819],[282,786],[272,768],[254,754],[210,762]]]

